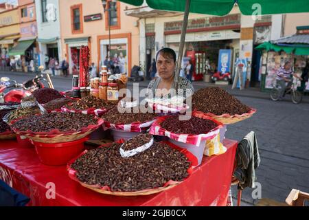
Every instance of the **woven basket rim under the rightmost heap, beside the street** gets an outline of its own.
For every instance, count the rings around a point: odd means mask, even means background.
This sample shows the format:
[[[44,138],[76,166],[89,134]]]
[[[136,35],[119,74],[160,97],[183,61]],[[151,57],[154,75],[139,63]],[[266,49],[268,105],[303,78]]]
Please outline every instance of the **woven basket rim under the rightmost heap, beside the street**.
[[[255,112],[256,112],[255,109],[250,109],[248,113],[244,113],[242,115],[229,115],[229,114],[214,115],[213,113],[203,113],[202,111],[194,111],[193,115],[196,117],[198,117],[199,115],[207,115],[211,118],[214,118],[218,122],[221,122],[222,124],[234,124],[236,122],[240,122],[242,120],[250,118]]]

